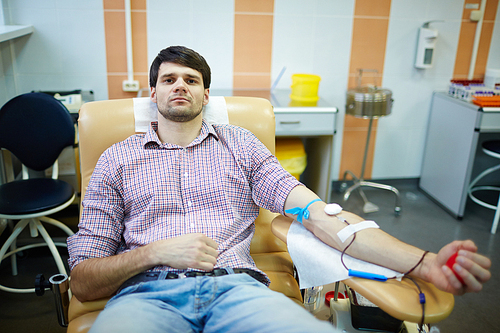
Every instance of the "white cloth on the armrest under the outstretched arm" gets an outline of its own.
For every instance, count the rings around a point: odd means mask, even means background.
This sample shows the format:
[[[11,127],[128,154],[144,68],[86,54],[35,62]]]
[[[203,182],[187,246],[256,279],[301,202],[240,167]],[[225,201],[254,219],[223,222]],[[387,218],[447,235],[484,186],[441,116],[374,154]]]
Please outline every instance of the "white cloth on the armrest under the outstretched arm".
[[[288,253],[297,268],[300,288],[322,286],[350,278],[340,261],[341,252],[326,245],[302,224],[293,221],[287,234]],[[344,255],[348,268],[392,277],[391,269]]]

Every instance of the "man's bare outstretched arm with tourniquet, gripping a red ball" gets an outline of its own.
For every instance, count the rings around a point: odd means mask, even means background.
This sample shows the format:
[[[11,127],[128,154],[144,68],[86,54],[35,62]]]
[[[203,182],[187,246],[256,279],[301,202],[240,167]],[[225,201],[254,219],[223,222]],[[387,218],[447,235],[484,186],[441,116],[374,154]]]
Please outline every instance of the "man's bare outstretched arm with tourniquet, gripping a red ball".
[[[284,210],[295,207],[304,208],[315,199],[318,199],[318,196],[307,187],[296,186],[288,194]],[[346,211],[342,211],[337,216],[330,216],[325,213],[325,206],[326,203],[323,201],[312,203],[308,207],[309,218],[303,219],[302,223],[324,243],[342,251],[353,236],[345,242],[339,239],[337,233],[347,224],[338,217],[344,218],[349,224],[356,224],[364,219]],[[288,213],[286,215],[292,218],[297,217]],[[489,271],[491,261],[476,251],[477,247],[470,240],[454,241],[444,246],[437,254],[428,253],[412,275],[453,294],[478,292],[482,289],[483,283],[491,277]],[[459,256],[453,268],[462,277],[464,284],[446,266],[448,258],[456,252]],[[419,262],[424,251],[390,236],[381,229],[370,228],[357,232],[356,240],[346,253],[398,272],[406,272]]]

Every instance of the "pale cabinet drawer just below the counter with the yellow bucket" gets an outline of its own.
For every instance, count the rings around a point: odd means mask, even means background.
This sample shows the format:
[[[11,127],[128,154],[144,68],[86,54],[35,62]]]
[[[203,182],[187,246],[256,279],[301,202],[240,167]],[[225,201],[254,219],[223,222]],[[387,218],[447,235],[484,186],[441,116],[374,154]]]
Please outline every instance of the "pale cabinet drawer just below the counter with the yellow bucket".
[[[276,117],[276,136],[333,135],[335,113],[279,112]]]

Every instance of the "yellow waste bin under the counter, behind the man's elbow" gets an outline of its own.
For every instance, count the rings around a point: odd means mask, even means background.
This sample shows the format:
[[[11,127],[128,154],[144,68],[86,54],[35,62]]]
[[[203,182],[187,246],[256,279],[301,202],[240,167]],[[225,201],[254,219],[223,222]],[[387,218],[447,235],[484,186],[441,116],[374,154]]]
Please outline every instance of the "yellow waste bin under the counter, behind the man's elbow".
[[[297,179],[306,169],[307,155],[299,138],[277,138],[276,157],[281,166]]]

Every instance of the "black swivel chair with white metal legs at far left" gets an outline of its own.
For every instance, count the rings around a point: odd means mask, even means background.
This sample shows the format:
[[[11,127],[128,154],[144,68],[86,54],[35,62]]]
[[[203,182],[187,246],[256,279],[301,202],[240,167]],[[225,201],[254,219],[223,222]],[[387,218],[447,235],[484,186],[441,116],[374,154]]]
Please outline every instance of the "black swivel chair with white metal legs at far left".
[[[13,254],[33,247],[48,246],[60,273],[65,265],[41,222],[61,228],[72,235],[62,222],[47,217],[69,206],[75,199],[73,187],[57,179],[57,159],[61,151],[75,143],[75,127],[68,110],[54,97],[27,93],[8,101],[0,109],[0,148],[14,154],[22,163],[22,179],[0,185],[0,219],[19,220],[0,249],[0,262]],[[52,167],[51,178],[30,178],[28,169],[44,171]],[[16,248],[16,239],[29,226],[31,237],[42,236],[43,243]],[[7,250],[10,248],[10,252]],[[12,273],[17,275],[15,256]],[[14,289],[0,285],[0,290],[17,293],[35,292],[35,288]]]

